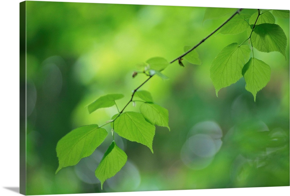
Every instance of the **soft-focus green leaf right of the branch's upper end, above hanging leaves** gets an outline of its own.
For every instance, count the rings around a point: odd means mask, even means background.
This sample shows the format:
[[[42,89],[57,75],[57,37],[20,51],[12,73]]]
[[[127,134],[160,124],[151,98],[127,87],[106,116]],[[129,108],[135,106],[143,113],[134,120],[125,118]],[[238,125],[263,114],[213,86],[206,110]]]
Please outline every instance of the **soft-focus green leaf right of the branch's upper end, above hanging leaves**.
[[[227,22],[220,30],[221,34],[239,34],[247,30],[249,24],[246,19],[248,14],[237,14],[229,22]]]

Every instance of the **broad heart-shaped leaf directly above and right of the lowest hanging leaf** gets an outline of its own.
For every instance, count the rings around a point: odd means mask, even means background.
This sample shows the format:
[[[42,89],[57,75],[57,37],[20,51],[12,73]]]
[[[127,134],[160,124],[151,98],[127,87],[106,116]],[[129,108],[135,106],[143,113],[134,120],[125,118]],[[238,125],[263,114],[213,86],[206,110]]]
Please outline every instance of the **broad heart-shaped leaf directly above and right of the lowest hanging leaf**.
[[[136,141],[150,148],[155,135],[155,126],[148,123],[138,112],[124,112],[114,122],[114,131],[121,137]]]

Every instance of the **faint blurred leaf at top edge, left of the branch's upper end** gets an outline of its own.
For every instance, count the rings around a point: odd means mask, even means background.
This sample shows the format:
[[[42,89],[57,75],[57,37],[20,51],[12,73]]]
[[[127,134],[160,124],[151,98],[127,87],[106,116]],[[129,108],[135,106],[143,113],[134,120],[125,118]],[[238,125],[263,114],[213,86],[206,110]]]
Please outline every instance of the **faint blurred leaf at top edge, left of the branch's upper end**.
[[[218,19],[220,17],[232,14],[236,10],[236,8],[206,8],[203,21],[208,19]]]

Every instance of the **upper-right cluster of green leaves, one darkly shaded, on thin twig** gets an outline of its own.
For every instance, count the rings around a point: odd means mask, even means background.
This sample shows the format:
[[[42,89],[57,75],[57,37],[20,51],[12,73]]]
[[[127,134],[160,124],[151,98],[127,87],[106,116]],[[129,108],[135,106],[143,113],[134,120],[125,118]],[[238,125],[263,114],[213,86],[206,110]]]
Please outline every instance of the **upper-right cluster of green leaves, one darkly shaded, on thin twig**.
[[[217,96],[221,88],[244,77],[245,88],[253,94],[255,100],[257,92],[270,81],[271,68],[254,57],[253,47],[260,52],[280,52],[286,59],[287,37],[283,29],[275,24],[274,16],[289,18],[289,10],[258,10],[252,15],[237,14],[220,29],[221,34],[233,35],[247,31],[249,37],[241,44],[229,44],[213,60],[210,76]],[[251,47],[247,44],[248,40]]]

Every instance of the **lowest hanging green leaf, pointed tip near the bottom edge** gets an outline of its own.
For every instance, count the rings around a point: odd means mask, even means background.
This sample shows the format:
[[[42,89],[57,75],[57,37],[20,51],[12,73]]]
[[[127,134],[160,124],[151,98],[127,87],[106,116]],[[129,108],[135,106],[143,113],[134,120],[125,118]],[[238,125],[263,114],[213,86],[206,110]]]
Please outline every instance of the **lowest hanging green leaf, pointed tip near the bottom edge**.
[[[116,175],[126,164],[126,161],[126,153],[113,141],[95,170],[96,177],[101,181],[102,190],[104,182]]]

